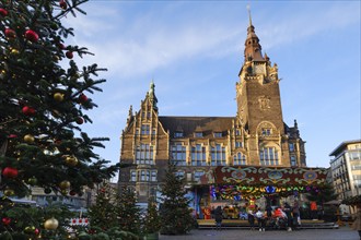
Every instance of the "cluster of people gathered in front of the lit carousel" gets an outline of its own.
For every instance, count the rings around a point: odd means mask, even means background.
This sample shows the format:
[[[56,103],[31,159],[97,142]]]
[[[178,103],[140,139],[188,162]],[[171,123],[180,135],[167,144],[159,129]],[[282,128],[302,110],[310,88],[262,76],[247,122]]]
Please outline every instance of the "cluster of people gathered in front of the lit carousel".
[[[292,231],[299,225],[300,220],[300,207],[298,202],[291,206],[284,203],[281,207],[271,208],[269,205],[263,212],[259,207],[248,211],[248,223],[251,230],[255,229],[255,221],[257,220],[259,231],[266,230],[266,225],[272,228],[284,227],[288,231]]]

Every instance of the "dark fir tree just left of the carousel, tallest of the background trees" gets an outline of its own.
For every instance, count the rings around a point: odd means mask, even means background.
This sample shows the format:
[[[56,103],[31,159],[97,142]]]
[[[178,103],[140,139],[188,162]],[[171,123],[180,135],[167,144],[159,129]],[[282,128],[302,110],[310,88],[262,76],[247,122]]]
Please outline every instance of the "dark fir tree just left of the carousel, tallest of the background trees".
[[[186,197],[184,178],[176,176],[176,168],[168,164],[162,185],[161,233],[184,235],[196,226],[189,209],[190,200]]]

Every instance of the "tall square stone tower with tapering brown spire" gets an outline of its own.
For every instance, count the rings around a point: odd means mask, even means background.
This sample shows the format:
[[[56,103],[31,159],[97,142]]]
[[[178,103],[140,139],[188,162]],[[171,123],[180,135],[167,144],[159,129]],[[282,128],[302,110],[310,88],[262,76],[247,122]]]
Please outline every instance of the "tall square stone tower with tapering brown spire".
[[[244,64],[236,83],[237,121],[245,129],[251,165],[289,166],[277,64],[261,53],[249,13]]]

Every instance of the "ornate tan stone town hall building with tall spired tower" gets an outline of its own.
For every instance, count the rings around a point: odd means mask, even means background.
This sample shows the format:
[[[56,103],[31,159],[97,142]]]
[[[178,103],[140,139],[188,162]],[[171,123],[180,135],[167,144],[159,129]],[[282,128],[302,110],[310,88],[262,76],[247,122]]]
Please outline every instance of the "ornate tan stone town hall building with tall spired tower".
[[[147,202],[156,194],[168,160],[189,184],[217,166],[306,167],[296,121],[293,127],[283,122],[279,81],[278,67],[263,56],[249,21],[235,117],[159,116],[151,83],[139,111],[130,107],[121,133],[120,163],[136,166],[120,170],[119,187],[135,188],[139,202]]]

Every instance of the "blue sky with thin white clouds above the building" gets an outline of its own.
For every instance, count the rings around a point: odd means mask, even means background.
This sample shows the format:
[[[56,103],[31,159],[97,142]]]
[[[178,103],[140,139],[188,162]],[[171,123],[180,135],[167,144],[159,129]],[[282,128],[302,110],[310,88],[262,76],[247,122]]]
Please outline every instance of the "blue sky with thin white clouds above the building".
[[[235,83],[243,64],[251,3],[256,34],[279,68],[283,120],[296,119],[307,165],[328,167],[341,142],[361,137],[360,1],[112,1],[83,4],[68,16],[67,44],[88,47],[108,71],[93,96],[91,136],[108,136],[97,149],[119,160],[129,106],[138,111],[151,80],[161,116],[236,115]]]

